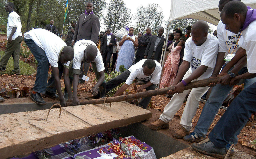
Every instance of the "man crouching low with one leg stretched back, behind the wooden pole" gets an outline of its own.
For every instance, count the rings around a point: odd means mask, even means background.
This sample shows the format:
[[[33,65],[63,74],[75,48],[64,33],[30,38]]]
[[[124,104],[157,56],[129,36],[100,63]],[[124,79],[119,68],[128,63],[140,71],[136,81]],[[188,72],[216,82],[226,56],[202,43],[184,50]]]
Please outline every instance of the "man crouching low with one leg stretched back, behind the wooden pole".
[[[155,90],[155,84],[158,84],[161,75],[161,65],[157,61],[152,59],[143,59],[132,65],[128,70],[122,72],[117,77],[109,80],[106,83],[107,92],[117,87],[119,84],[125,82],[124,85],[119,88],[113,97],[121,95],[132,84],[132,81],[141,79],[144,85],[137,89],[137,92],[146,90]],[[139,106],[147,109],[147,106],[151,100],[151,97],[142,98]]]

